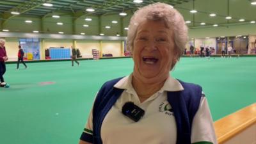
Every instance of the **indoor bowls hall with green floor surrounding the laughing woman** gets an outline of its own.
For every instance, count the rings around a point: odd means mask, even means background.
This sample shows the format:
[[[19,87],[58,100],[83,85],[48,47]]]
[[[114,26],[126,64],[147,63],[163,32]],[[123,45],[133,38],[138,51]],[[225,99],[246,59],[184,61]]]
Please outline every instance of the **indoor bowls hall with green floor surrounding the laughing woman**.
[[[255,144],[254,0],[0,1],[0,143],[79,143],[102,84],[134,70],[132,15],[157,2],[188,26],[172,77],[202,86],[218,143]]]

